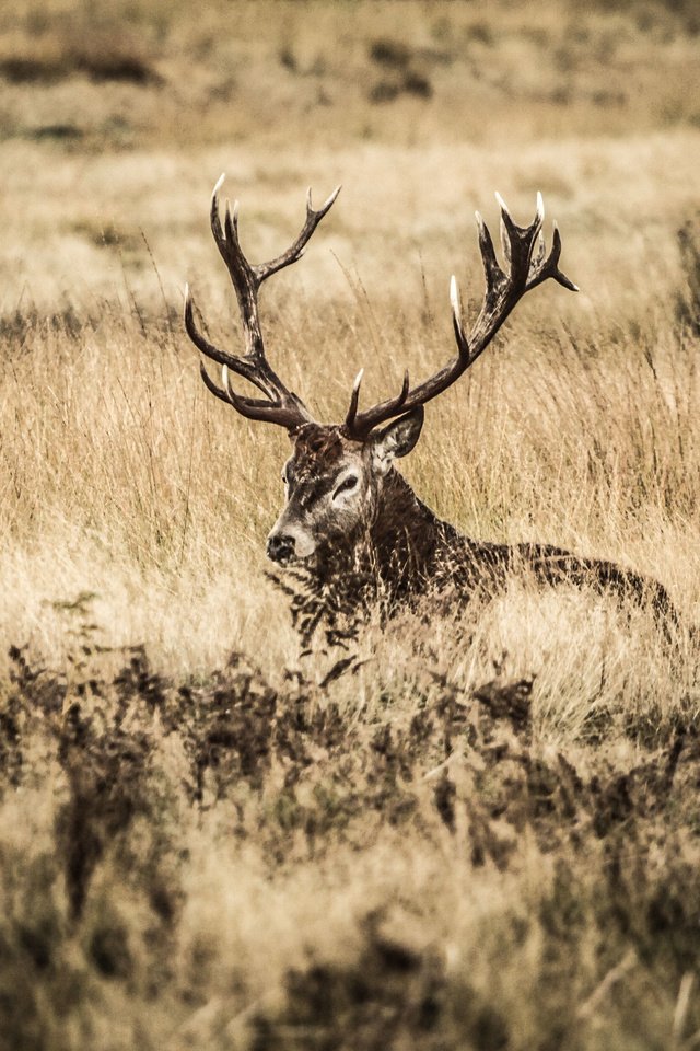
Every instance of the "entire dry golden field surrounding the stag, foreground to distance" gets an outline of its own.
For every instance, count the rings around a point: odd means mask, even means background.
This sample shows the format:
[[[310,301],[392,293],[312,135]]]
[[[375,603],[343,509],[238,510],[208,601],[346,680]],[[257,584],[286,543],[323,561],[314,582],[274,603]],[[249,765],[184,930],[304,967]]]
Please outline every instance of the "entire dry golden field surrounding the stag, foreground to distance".
[[[0,10],[0,1042],[700,1046],[699,83],[693,0]],[[542,192],[582,291],[528,297],[405,472],[655,576],[670,644],[513,581],[300,654],[287,438],[182,324],[189,281],[240,346],[222,171],[253,259],[342,183],[262,298],[322,419],[452,355],[474,209]]]

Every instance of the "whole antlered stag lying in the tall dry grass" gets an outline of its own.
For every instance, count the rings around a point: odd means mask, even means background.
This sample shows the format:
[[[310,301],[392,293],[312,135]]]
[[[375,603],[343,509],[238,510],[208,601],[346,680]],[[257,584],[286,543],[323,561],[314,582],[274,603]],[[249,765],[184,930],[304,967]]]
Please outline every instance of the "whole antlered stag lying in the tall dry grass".
[[[408,371],[400,391],[385,401],[360,408],[363,370],[352,386],[341,423],[318,423],[301,397],[289,390],[268,361],[258,310],[261,285],[296,263],[340,193],[338,186],[314,210],[306,197],[306,218],[296,240],[268,263],[250,264],[238,239],[238,203],[225,203],[223,222],[219,192],[211,197],[210,224],[214,242],[229,270],[237,299],[245,354],[232,355],[213,346],[196,321],[194,300],[185,289],[185,327],[203,356],[200,373],[207,389],[241,416],[284,427],[292,444],[282,478],[285,501],[267,538],[267,555],[280,567],[302,569],[316,597],[335,596],[335,610],[348,612],[381,598],[387,611],[429,593],[450,591],[468,601],[502,591],[511,575],[527,571],[538,585],[590,586],[618,599],[651,603],[667,631],[677,622],[666,589],[655,579],[614,562],[581,557],[546,543],[493,543],[464,535],[442,521],[416,495],[399,473],[396,461],[415,448],[424,420],[424,406],[470,369],[528,292],[547,280],[579,291],[559,268],[561,236],[553,224],[547,251],[542,234],[545,210],[537,195],[536,213],[526,227],[515,223],[497,194],[501,213],[503,265],[483,219],[476,212],[486,289],[470,331],[455,277],[450,285],[452,322],[457,353],[428,379],[411,385]],[[205,358],[221,367],[221,385],[214,382]],[[247,380],[261,396],[234,390],[231,374]],[[288,593],[295,594],[293,589]],[[307,617],[312,632],[322,608]],[[308,635],[306,636],[308,637]]]

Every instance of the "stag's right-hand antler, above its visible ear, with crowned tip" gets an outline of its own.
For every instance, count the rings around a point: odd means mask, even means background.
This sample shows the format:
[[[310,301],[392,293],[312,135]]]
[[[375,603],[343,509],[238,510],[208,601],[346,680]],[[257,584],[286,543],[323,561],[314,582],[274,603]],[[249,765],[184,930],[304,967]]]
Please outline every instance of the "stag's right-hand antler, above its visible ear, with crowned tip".
[[[381,402],[363,413],[358,413],[360,383],[362,381],[362,372],[360,372],[354,381],[350,408],[345,423],[345,430],[349,437],[363,440],[378,424],[398,416],[399,413],[416,408],[418,405],[424,405],[425,402],[446,391],[486,350],[525,292],[537,285],[541,285],[548,277],[553,278],[559,285],[563,285],[571,291],[579,291],[573,281],[570,281],[559,269],[561,238],[556,223],[551,250],[547,255],[545,239],[541,233],[545,219],[541,194],[537,194],[537,211],[535,219],[528,227],[518,227],[513,222],[502,197],[497,194],[495,199],[501,208],[501,244],[505,258],[505,269],[499,265],[491,234],[477,211],[479,247],[486,276],[486,293],[479,316],[467,336],[462,324],[459,291],[453,275],[450,284],[450,299],[457,340],[457,357],[412,390],[409,388],[408,372],[406,372],[404,386],[396,397]]]

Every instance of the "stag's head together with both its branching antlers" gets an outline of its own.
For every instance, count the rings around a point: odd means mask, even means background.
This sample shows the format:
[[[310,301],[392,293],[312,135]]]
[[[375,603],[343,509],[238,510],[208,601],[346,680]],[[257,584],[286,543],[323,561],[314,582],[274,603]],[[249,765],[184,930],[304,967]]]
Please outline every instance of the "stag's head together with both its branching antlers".
[[[371,527],[382,506],[387,480],[395,475],[394,461],[407,455],[418,441],[423,405],[447,390],[476,361],[525,292],[550,277],[573,291],[576,286],[558,267],[561,240],[556,226],[552,246],[549,253],[546,251],[541,234],[541,196],[537,195],[533,222],[528,227],[518,227],[497,194],[505,269],[499,264],[491,235],[477,212],[486,292],[481,310],[467,335],[463,327],[457,284],[452,278],[456,357],[416,386],[410,385],[406,372],[397,395],[363,412],[359,411],[360,371],[345,420],[319,424],[299,395],[282,383],[267,360],[258,314],[258,291],[268,277],[301,258],[340,187],[317,211],[312,207],[308,190],[306,220],[294,243],[271,262],[252,265],[238,241],[237,201],[233,211],[226,201],[223,226],[221,223],[219,189],[222,182],[223,175],[211,199],[211,229],[238,301],[246,353],[241,357],[233,356],[208,342],[195,322],[189,290],[186,291],[185,325],[197,348],[221,366],[222,385],[219,386],[200,362],[202,380],[211,393],[248,419],[285,427],[292,441],[292,454],[282,472],[287,501],[268,535],[269,557],[282,564],[318,558],[335,548],[352,545]],[[248,397],[236,393],[231,384],[231,372],[248,380],[264,396]]]

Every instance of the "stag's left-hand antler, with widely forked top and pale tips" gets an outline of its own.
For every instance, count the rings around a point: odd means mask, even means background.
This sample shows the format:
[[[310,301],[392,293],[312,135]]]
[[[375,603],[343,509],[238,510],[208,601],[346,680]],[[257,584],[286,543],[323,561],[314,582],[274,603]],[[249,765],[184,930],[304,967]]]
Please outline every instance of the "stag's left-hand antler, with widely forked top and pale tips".
[[[203,361],[200,362],[201,378],[212,394],[224,402],[229,402],[236,412],[248,419],[267,420],[293,430],[301,424],[310,423],[312,416],[302,400],[284,386],[265,356],[265,344],[258,315],[258,291],[262,281],[267,280],[268,277],[301,258],[311,235],[340,193],[340,186],[336,187],[318,211],[314,211],[312,208],[310,189],[306,195],[306,221],[294,243],[287,252],[282,252],[281,255],[269,263],[252,265],[243,254],[238,241],[237,200],[234,203],[233,212],[229,201],[226,201],[224,222],[223,227],[221,226],[219,190],[223,180],[224,176],[222,175],[211,195],[211,232],[214,235],[221,257],[226,264],[236,293],[245,334],[246,354],[243,357],[226,354],[212,346],[205,338],[195,323],[195,310],[189,288],[185,290],[185,327],[195,346],[222,367],[223,386],[220,388],[210,378]],[[230,371],[249,380],[265,394],[265,399],[245,397],[236,394],[231,386]]]

